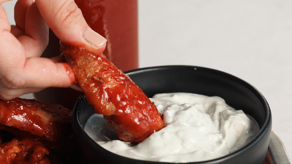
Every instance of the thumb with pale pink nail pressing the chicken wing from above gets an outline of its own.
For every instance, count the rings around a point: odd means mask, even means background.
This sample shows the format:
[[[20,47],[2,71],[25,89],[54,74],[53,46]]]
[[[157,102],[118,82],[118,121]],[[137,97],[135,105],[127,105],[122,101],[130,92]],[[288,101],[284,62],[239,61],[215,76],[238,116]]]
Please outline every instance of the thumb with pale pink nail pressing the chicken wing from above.
[[[65,43],[81,44],[101,53],[106,39],[86,23],[74,0],[36,0],[40,13],[54,34]]]

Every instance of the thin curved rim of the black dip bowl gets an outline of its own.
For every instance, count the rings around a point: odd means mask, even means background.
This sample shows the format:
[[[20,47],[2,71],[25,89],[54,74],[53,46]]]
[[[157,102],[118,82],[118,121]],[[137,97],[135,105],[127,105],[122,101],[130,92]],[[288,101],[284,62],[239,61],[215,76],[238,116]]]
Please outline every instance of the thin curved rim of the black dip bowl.
[[[211,73],[216,73],[216,74],[221,74],[226,78],[229,78],[237,83],[242,84],[244,87],[246,87],[247,89],[249,89],[253,94],[255,94],[255,96],[259,99],[259,101],[262,103],[264,111],[265,111],[265,119],[262,125],[262,128],[260,128],[259,132],[254,136],[254,138],[245,146],[241,147],[240,149],[229,153],[228,155],[224,155],[222,157],[216,158],[216,159],[211,159],[211,160],[207,160],[207,161],[200,161],[200,162],[186,162],[183,164],[199,164],[199,163],[217,163],[217,162],[222,162],[226,159],[229,159],[231,156],[235,156],[238,155],[242,152],[244,152],[246,149],[249,149],[252,145],[256,144],[257,142],[259,142],[259,140],[263,137],[263,135],[269,131],[269,129],[271,129],[271,125],[272,125],[272,116],[271,116],[271,110],[269,107],[268,102],[266,101],[265,97],[260,93],[260,91],[258,89],[256,89],[252,84],[234,76],[231,75],[229,73],[220,71],[220,70],[216,70],[216,69],[212,69],[212,68],[207,68],[207,67],[200,67],[200,66],[191,66],[191,65],[164,65],[164,66],[154,66],[154,67],[143,67],[143,68],[137,68],[134,70],[128,70],[125,71],[124,73],[127,74],[128,76],[131,74],[136,74],[136,73],[140,73],[140,72],[146,72],[146,71],[151,71],[151,70],[162,70],[162,69],[176,69],[176,68],[193,68],[194,70],[200,70],[200,71],[207,71],[207,72],[211,72]],[[82,128],[82,125],[80,124],[79,121],[79,117],[78,117],[78,113],[80,112],[79,108],[81,106],[81,104],[83,103],[83,100],[85,99],[85,95],[84,93],[78,98],[78,101],[75,104],[75,107],[73,109],[73,114],[72,114],[72,123],[74,124],[74,126],[78,129],[80,135],[82,135],[83,138],[85,138],[86,141],[89,142],[90,145],[92,145],[94,148],[97,146],[99,148],[102,148],[99,144],[97,144],[93,139],[91,139],[89,137],[89,135],[86,134],[86,132],[84,131],[84,129]],[[171,164],[171,162],[156,162],[156,161],[144,161],[144,160],[139,160],[139,159],[131,159],[128,157],[124,157],[121,155],[117,155],[113,152],[110,152],[104,148],[102,148],[104,151],[103,152],[107,152],[109,155],[111,156],[111,158],[115,159],[115,158],[122,158],[122,159],[126,159],[126,160],[137,160],[137,162],[144,162],[144,163],[149,163],[149,164],[157,164],[157,163],[162,163],[162,164]]]

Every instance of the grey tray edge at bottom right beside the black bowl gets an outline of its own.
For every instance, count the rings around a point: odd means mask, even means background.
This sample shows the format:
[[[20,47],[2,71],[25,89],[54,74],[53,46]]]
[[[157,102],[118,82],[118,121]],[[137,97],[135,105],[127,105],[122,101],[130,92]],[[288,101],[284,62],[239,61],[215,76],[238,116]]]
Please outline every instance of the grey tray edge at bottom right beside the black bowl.
[[[269,143],[269,153],[273,164],[292,164],[280,137],[272,130]]]

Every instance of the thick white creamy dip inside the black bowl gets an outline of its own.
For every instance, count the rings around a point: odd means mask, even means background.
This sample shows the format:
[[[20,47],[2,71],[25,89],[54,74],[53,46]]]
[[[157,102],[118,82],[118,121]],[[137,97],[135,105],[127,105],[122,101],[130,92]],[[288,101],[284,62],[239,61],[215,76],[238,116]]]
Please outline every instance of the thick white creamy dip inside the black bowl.
[[[89,118],[85,132],[113,153],[160,162],[215,159],[241,148],[259,132],[252,117],[231,108],[220,97],[169,93],[156,94],[150,100],[163,113],[165,128],[137,145],[112,140],[117,138],[115,132],[98,114]]]

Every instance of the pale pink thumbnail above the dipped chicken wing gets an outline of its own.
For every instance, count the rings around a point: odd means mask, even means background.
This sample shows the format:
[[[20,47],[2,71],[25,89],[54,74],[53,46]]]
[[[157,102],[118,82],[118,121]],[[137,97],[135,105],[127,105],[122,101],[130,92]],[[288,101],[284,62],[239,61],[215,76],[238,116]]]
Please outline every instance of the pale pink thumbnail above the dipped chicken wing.
[[[89,42],[97,47],[103,46],[103,44],[105,44],[107,41],[106,38],[99,35],[99,33],[93,31],[90,28],[85,29],[85,31],[83,33],[83,37],[87,42]]]

